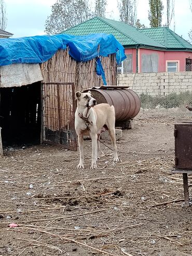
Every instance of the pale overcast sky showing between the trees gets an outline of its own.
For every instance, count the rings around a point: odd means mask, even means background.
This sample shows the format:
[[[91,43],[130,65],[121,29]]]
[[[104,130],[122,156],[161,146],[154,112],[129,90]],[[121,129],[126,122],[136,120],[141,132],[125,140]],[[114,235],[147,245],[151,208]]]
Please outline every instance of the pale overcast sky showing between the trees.
[[[106,18],[119,20],[117,0],[107,0]],[[51,14],[51,5],[57,0],[5,0],[7,12],[6,31],[13,33],[13,37],[43,35],[45,20]],[[94,1],[93,1],[94,2]],[[163,0],[166,6],[166,0]],[[138,19],[149,28],[148,0],[138,0]],[[189,0],[175,0],[175,33],[188,39],[188,32],[192,28],[192,14]],[[163,19],[162,24],[165,24]],[[170,26],[174,30],[173,24]]]

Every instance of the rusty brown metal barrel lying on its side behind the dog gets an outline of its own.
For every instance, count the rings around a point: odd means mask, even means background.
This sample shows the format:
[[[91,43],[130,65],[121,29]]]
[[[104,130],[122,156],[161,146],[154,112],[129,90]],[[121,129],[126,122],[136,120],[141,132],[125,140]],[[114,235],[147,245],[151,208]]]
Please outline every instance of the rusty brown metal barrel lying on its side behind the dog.
[[[97,104],[114,105],[116,121],[123,121],[135,117],[141,108],[139,96],[128,88],[128,86],[101,86],[93,87],[89,91],[97,100]]]

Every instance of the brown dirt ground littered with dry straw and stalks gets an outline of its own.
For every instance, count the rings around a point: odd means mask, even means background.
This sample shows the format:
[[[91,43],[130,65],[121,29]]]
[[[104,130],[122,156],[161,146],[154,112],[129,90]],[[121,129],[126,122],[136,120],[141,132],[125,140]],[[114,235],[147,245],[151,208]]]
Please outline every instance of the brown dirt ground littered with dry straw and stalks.
[[[120,162],[113,164],[105,141],[97,170],[89,169],[90,141],[84,170],[76,169],[78,151],[6,150],[0,255],[192,255],[192,208],[183,204],[182,175],[171,174],[176,122],[141,111],[117,141]]]

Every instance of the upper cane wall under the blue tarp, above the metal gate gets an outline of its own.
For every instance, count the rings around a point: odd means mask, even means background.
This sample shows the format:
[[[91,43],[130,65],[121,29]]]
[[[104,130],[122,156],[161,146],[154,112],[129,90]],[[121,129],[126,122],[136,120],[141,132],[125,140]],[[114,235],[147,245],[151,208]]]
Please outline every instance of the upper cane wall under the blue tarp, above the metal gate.
[[[115,54],[102,57],[101,62],[107,85],[117,85]],[[77,62],[68,54],[68,49],[57,51],[51,59],[41,64],[41,68],[43,82],[74,82],[79,91],[103,85],[102,77],[95,72],[95,59]]]

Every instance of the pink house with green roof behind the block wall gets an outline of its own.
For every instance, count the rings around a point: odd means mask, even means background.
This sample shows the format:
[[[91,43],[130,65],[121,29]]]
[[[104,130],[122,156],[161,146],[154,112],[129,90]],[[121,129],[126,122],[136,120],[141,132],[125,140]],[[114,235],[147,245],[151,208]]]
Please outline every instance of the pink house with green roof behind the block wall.
[[[124,22],[95,17],[62,33],[113,34],[127,56],[118,67],[119,73],[192,71],[192,45],[167,27],[136,29]]]

